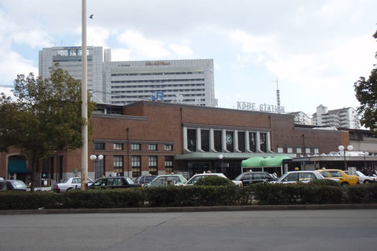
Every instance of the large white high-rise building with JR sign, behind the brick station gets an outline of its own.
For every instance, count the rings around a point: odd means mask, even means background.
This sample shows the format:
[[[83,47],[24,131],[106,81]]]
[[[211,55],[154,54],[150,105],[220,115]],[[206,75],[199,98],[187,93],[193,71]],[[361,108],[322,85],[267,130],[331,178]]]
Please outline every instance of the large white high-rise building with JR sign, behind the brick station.
[[[87,47],[88,90],[94,101],[122,105],[156,100],[217,106],[212,59],[111,61],[111,50]],[[81,47],[50,47],[39,52],[39,75],[50,76],[54,63],[81,78]]]

